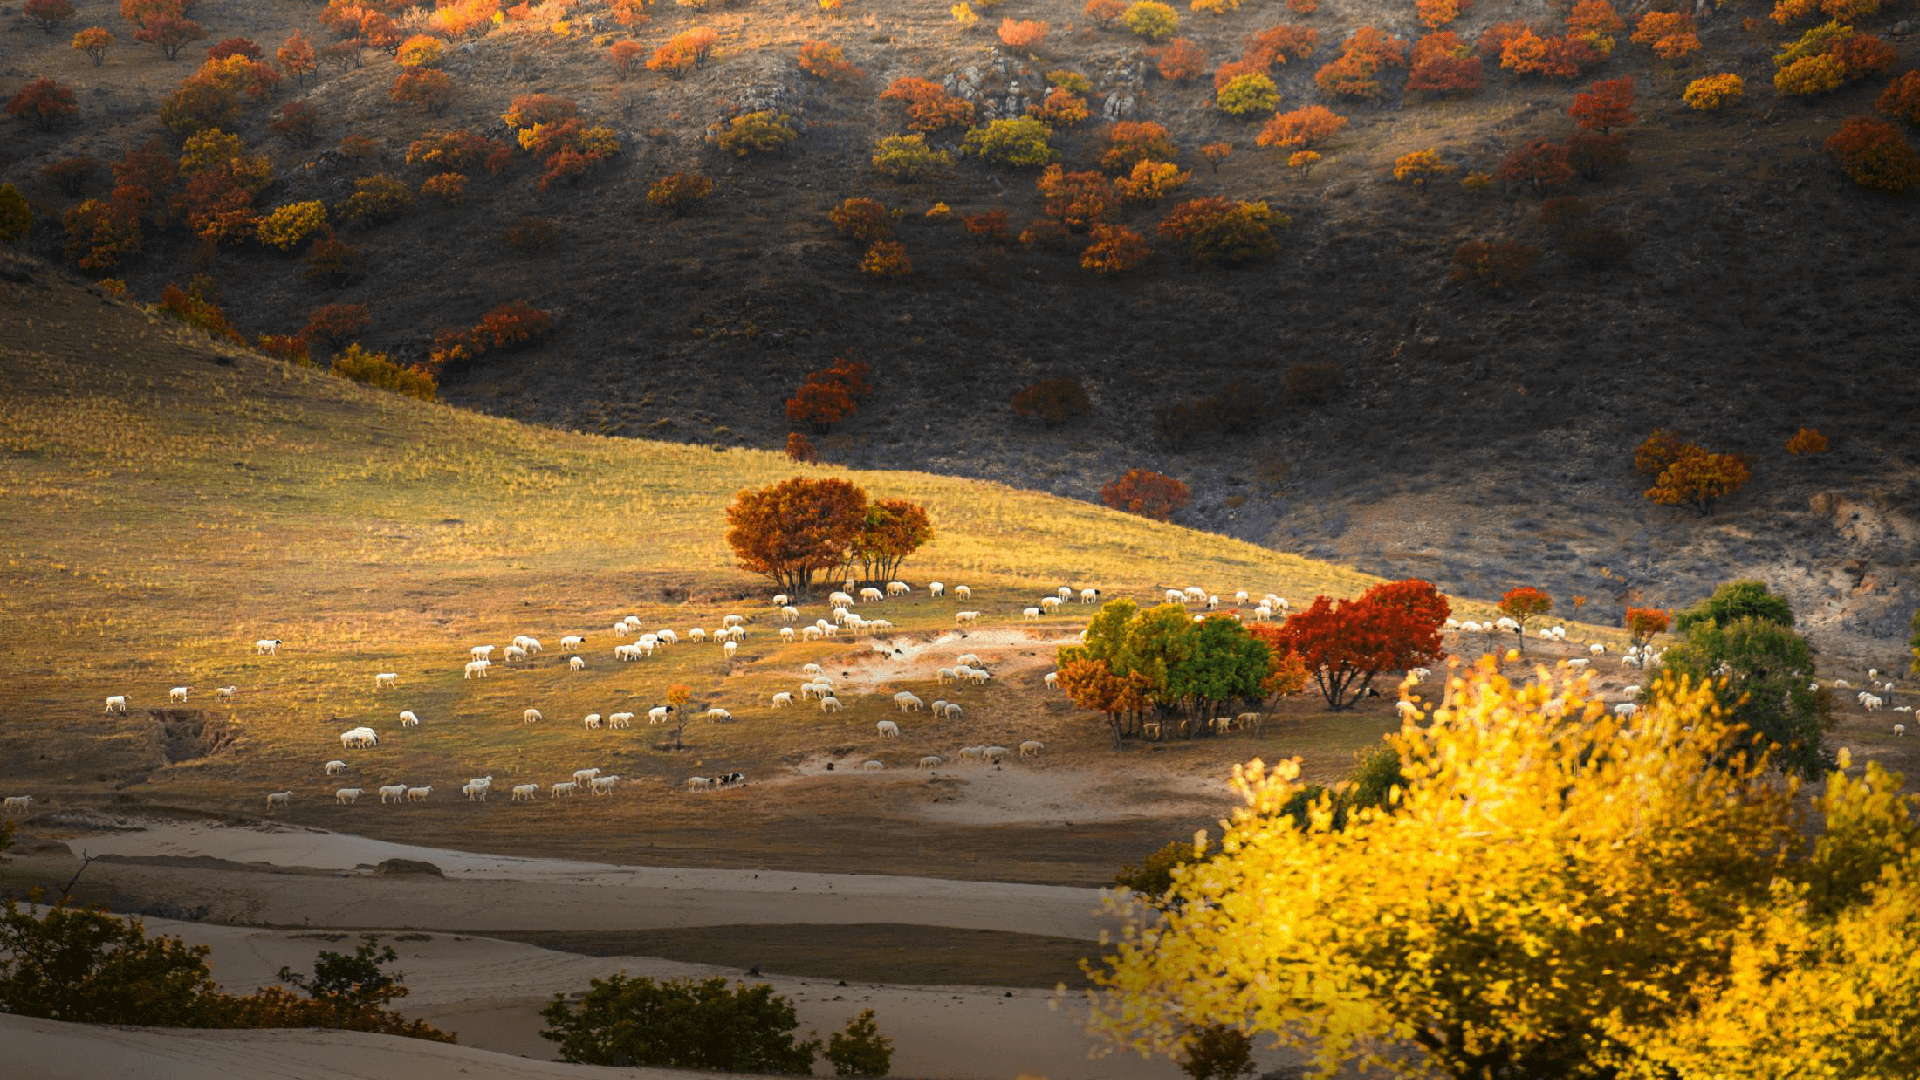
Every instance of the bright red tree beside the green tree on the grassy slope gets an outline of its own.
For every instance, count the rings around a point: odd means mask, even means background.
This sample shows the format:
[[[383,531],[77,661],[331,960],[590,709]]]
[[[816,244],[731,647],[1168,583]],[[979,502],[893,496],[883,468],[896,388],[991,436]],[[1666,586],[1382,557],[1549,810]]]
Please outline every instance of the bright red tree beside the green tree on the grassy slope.
[[[1382,671],[1436,663],[1452,605],[1423,580],[1377,584],[1357,600],[1313,598],[1281,625],[1281,646],[1306,663],[1327,707],[1352,709]]]

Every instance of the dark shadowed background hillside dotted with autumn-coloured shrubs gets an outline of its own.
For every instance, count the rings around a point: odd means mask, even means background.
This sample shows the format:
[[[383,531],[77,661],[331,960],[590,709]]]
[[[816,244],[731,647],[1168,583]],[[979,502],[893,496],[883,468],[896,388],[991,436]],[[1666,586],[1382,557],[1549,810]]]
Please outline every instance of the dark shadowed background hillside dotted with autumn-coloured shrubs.
[[[125,37],[108,0],[79,8],[73,25]],[[1146,42],[1081,8],[1016,0],[962,29],[931,0],[837,12],[735,0],[705,12],[660,4],[628,31],[605,4],[545,4],[545,15],[449,48],[442,67],[455,94],[444,115],[390,102],[394,61],[367,50],[357,67],[323,67],[282,88],[282,102],[323,115],[315,144],[275,138],[265,106],[240,113],[250,152],[273,160],[261,208],[340,206],[357,179],[382,171],[417,186],[428,171],[407,165],[413,140],[459,127],[507,138],[499,117],[518,94],[576,100],[618,133],[620,152],[578,184],[545,190],[538,163],[516,156],[501,177],[476,175],[463,206],[420,198],[392,223],[342,225],[363,261],[340,288],[309,284],[300,261],[257,244],[196,256],[179,225],[152,233],[113,273],[142,300],[207,273],[248,336],[298,331],[321,304],[367,304],[361,338],[403,361],[424,361],[440,329],[528,300],[553,311],[555,332],[444,371],[445,400],[695,446],[781,446],[781,402],[806,371],[854,354],[877,367],[877,394],[824,440],[826,455],[851,467],[983,477],[1075,500],[1129,467],[1154,467],[1192,484],[1183,523],[1430,577],[1459,594],[1540,584],[1563,603],[1586,596],[1601,621],[1630,600],[1690,603],[1753,575],[1788,592],[1834,655],[1860,667],[1897,659],[1920,603],[1910,573],[1920,486],[1903,434],[1920,405],[1905,334],[1920,221],[1914,198],[1853,184],[1820,146],[1841,117],[1872,113],[1910,67],[1910,4],[1859,19],[1895,50],[1891,67],[1812,98],[1770,88],[1772,56],[1811,21],[1776,25],[1764,6],[1728,4],[1695,8],[1703,50],[1682,60],[1622,33],[1578,79],[1488,65],[1484,88],[1446,96],[1407,92],[1405,73],[1390,69],[1371,102],[1327,96],[1313,71],[1361,25],[1419,38],[1411,4],[1179,8],[1179,33],[1204,52],[1206,71],[1271,25],[1317,35],[1309,58],[1271,69],[1281,108],[1327,104],[1348,119],[1308,177],[1283,150],[1256,146],[1260,117],[1212,106],[1212,79],[1164,79]],[[334,40],[307,4],[207,0],[194,12],[207,40],[246,35],[269,54],[296,29]],[[551,25],[557,13],[570,15],[564,33]],[[1505,21],[1557,33],[1563,15],[1488,4],[1446,29],[1465,42]],[[1008,50],[991,33],[998,17],[1044,19],[1052,33],[1039,52]],[[712,27],[718,46],[682,79],[618,79],[607,60],[609,42],[632,37],[653,50],[695,25]],[[207,42],[167,63],[123,40],[92,67],[65,35],[48,38],[17,17],[10,31],[13,79],[50,73],[81,90],[75,121],[46,135],[17,125],[0,146],[0,179],[40,209],[27,250],[58,259],[58,217],[79,196],[40,169],[73,154],[113,161],[165,135],[156,104]],[[841,46],[864,79],[803,73],[795,56],[808,40]],[[1043,211],[1033,171],[960,158],[945,175],[899,184],[872,169],[874,142],[904,123],[879,100],[893,79],[945,81],[987,119],[1035,104],[1056,69],[1091,81],[1096,113],[1058,133],[1066,167],[1098,158],[1102,115],[1162,123],[1192,171],[1181,194],[1267,200],[1290,217],[1279,254],[1204,265],[1154,233],[1162,209],[1129,206],[1119,221],[1154,254],[1096,277],[1079,269],[1077,246],[983,244],[956,219],[924,217],[935,202],[954,215],[1006,209],[1018,231]],[[1716,71],[1740,73],[1745,98],[1713,113],[1680,102],[1690,79]],[[1640,119],[1624,129],[1630,160],[1546,192],[1582,200],[1624,244],[1617,259],[1588,265],[1563,250],[1567,231],[1542,223],[1542,198],[1523,184],[1457,186],[1526,140],[1565,138],[1574,92],[1619,77],[1640,92]],[[797,125],[783,154],[737,158],[708,142],[728,115],[762,108]],[[353,156],[340,150],[346,136],[372,142]],[[1217,171],[1198,154],[1215,142],[1233,148]],[[933,144],[954,148],[958,133]],[[1394,183],[1394,160],[1423,148],[1450,173],[1427,190]],[[672,171],[710,175],[712,200],[687,217],[649,208],[647,186]],[[81,194],[104,196],[104,177]],[[900,211],[910,277],[860,273],[860,248],[828,221],[849,196]],[[1453,250],[1476,238],[1544,256],[1501,290],[1452,284]],[[1052,430],[1014,417],[1008,398],[1041,377],[1079,379],[1092,415]],[[1185,405],[1192,419],[1169,430],[1165,409]],[[1803,425],[1834,450],[1782,454]],[[1713,519],[1645,503],[1626,459],[1655,427],[1749,455],[1753,484]]]

